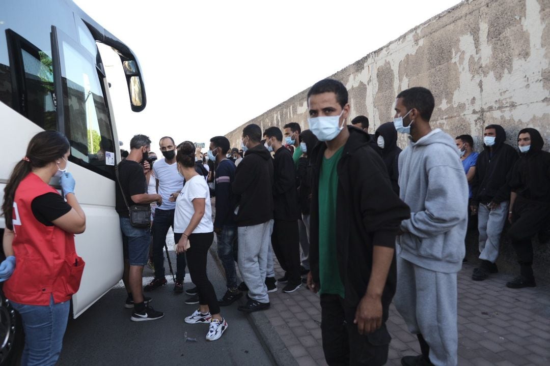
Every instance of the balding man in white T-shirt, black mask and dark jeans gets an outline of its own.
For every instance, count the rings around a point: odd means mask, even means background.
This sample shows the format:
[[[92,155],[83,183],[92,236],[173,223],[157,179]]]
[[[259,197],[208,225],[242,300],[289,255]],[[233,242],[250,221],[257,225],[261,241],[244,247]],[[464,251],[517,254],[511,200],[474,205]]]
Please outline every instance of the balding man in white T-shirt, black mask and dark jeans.
[[[164,204],[155,210],[153,219],[153,263],[155,263],[155,278],[145,286],[145,291],[152,291],[167,283],[164,277],[164,254],[166,234],[174,228],[175,199],[174,193],[179,193],[183,187],[183,177],[178,173],[175,161],[175,144],[172,137],[166,136],[159,142],[164,159],[157,160],[153,165],[153,174],[157,179],[157,192],[162,196]],[[174,292],[183,292],[185,278],[185,254],[176,256],[177,272]]]

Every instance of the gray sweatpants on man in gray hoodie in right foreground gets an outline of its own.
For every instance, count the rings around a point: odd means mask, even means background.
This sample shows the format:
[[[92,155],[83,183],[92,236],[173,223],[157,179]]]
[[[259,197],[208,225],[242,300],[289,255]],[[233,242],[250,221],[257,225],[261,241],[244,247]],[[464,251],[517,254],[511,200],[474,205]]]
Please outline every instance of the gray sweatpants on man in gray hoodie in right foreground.
[[[456,273],[416,266],[397,256],[397,291],[393,301],[412,334],[422,334],[436,366],[456,366]]]

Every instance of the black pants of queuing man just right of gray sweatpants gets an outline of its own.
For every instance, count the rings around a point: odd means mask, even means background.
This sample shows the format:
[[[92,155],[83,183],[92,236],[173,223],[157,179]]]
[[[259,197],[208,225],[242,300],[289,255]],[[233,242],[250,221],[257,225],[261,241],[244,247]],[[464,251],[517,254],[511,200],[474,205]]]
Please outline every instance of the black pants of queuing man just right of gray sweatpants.
[[[271,245],[288,280],[300,282],[300,235],[298,220],[273,220]]]

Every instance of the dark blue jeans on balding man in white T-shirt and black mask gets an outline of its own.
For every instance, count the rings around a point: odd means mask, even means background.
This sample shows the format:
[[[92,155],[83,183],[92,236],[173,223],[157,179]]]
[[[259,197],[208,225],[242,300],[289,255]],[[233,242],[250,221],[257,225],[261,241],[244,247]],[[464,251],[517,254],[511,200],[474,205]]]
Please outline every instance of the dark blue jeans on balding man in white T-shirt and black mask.
[[[164,277],[164,245],[166,245],[166,234],[170,227],[174,228],[175,210],[162,210],[157,207],[153,219],[153,263],[155,263],[155,278]],[[176,256],[176,280],[185,278],[185,255]]]

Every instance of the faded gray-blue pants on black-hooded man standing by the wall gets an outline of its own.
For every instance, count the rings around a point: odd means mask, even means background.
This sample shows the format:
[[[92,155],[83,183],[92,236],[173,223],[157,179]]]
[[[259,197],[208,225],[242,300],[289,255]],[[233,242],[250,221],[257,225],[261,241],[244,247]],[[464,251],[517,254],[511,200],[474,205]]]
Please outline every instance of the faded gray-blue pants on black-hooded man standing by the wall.
[[[508,201],[494,210],[480,204],[477,209],[477,230],[480,232],[480,259],[494,263],[498,258],[500,234],[508,218]]]

